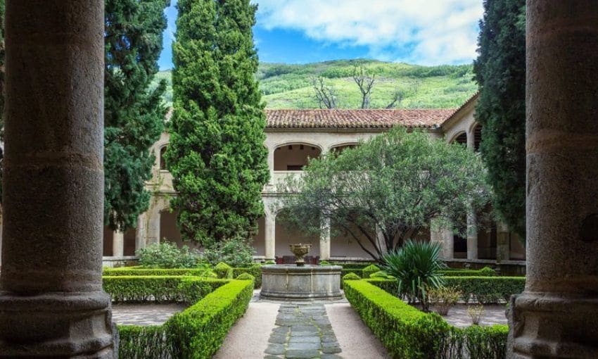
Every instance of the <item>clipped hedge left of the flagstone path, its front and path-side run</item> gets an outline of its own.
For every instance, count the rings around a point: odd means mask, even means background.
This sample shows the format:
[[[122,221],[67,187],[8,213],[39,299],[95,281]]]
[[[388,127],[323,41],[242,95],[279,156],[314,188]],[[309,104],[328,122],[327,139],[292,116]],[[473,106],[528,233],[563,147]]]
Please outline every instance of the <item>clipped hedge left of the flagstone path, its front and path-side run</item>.
[[[249,306],[253,282],[227,280],[158,327],[119,326],[121,359],[212,358]]]

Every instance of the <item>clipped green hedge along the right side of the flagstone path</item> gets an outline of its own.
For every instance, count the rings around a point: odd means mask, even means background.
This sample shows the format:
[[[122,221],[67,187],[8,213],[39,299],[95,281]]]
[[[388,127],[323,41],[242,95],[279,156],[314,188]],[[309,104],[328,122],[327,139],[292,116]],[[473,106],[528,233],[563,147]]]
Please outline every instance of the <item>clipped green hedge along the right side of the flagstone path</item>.
[[[364,280],[346,281],[345,296],[393,358],[505,357],[506,325],[455,328],[440,315],[423,313]]]

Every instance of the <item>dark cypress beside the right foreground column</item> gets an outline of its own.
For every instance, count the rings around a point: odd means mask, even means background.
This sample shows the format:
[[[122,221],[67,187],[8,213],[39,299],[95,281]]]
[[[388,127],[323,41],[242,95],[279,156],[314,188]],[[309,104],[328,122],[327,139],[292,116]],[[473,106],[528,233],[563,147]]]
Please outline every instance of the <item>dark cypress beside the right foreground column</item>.
[[[526,231],[526,1],[485,0],[473,64],[480,97],[481,153],[493,207],[511,230]]]

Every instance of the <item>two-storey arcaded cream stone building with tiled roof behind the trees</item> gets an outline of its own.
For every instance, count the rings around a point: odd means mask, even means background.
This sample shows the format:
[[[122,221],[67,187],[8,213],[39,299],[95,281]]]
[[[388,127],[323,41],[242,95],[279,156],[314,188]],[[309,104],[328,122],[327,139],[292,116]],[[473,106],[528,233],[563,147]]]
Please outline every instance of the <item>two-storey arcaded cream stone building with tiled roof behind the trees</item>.
[[[300,175],[309,158],[317,158],[329,151],[343,151],[396,125],[423,130],[433,138],[456,141],[477,151],[481,140],[481,126],[474,118],[477,98],[476,94],[457,110],[267,110],[265,146],[270,182],[262,191],[266,215],[260,219],[259,232],[253,241],[255,260],[280,260],[292,256],[288,244],[297,241],[312,244],[313,256],[319,256],[321,260],[371,260],[348,234],[315,238],[276,223],[276,213],[284,210],[276,208],[276,198],[280,196],[276,184],[287,175]],[[151,208],[140,216],[138,227],[124,234],[105,228],[103,253],[106,265],[130,260],[136,248],[162,240],[189,245],[181,241],[177,214],[170,210],[170,197],[177,194],[172,189],[172,176],[163,159],[169,138],[165,132],[152,146],[156,160],[153,179],[147,183],[147,189],[152,193]],[[446,259],[481,260],[481,263],[525,260],[525,248],[506,225],[499,222],[476,230],[476,224],[472,220],[467,222],[466,218],[457,225],[469,226],[466,236],[454,234],[450,228],[437,231],[428,228],[417,237],[441,242]]]

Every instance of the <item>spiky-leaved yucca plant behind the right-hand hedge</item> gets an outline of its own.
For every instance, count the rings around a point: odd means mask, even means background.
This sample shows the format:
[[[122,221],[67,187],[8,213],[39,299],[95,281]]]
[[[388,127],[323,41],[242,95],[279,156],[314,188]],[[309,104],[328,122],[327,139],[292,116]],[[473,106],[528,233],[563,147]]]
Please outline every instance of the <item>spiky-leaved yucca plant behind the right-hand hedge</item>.
[[[382,257],[383,270],[397,278],[399,295],[409,303],[419,301],[424,312],[429,311],[428,290],[444,286],[440,270],[446,265],[440,260],[441,249],[436,242],[409,240]]]

